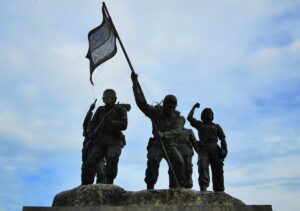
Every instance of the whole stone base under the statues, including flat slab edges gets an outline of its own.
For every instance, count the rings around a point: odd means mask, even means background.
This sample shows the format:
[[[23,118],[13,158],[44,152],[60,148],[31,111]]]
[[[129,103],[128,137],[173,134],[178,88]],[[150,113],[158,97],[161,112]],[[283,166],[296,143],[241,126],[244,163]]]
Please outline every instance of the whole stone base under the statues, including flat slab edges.
[[[115,185],[84,185],[57,194],[52,207],[23,211],[272,211],[271,205],[245,205],[224,192],[190,189],[125,191]]]

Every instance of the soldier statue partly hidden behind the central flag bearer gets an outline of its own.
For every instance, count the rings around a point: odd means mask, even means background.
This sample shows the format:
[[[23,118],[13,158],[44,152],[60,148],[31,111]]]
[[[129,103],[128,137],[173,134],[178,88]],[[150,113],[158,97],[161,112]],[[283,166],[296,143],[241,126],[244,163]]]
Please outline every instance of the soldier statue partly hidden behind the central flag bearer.
[[[179,136],[176,137],[175,141],[177,144],[177,149],[179,150],[180,154],[183,157],[184,161],[184,173],[185,173],[185,188],[192,188],[193,187],[193,163],[192,163],[192,157],[194,155],[193,149],[195,149],[196,152],[198,152],[198,141],[194,135],[193,130],[187,129],[184,127],[185,124],[185,118],[181,117],[182,121],[182,132]],[[170,178],[170,188],[174,188],[174,179],[172,177],[172,174],[170,174],[170,169],[168,171],[169,178]]]

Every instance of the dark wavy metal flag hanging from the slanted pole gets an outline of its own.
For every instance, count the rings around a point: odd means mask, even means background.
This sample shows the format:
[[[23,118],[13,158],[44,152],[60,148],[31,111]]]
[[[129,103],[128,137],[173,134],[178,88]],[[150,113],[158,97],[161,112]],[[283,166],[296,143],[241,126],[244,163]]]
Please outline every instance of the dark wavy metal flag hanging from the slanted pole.
[[[103,20],[101,25],[88,33],[89,50],[86,58],[90,60],[90,81],[92,84],[94,70],[117,53],[117,35],[113,29],[112,22],[107,17],[104,6],[102,7],[102,14]]]

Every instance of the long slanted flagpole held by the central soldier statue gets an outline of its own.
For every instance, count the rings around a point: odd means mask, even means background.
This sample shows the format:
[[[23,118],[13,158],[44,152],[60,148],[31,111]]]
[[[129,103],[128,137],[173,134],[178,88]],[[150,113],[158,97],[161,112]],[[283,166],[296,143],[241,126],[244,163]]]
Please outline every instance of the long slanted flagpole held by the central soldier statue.
[[[125,55],[125,57],[126,57],[126,60],[127,60],[127,62],[128,62],[128,65],[129,65],[129,67],[130,67],[130,70],[131,70],[131,72],[133,72],[134,74],[136,74],[135,71],[134,71],[134,69],[133,69],[133,66],[132,66],[132,64],[131,64],[131,62],[130,62],[130,59],[129,59],[128,55],[127,55],[127,52],[126,52],[126,50],[125,50],[125,48],[124,48],[124,46],[123,46],[123,43],[122,43],[121,38],[120,38],[120,36],[119,36],[119,34],[118,34],[118,31],[117,31],[117,29],[116,29],[116,27],[115,27],[115,25],[114,25],[114,23],[113,23],[113,21],[112,21],[112,18],[111,18],[110,15],[109,15],[109,12],[108,12],[108,9],[107,9],[107,7],[106,7],[106,5],[105,5],[105,2],[102,2],[102,4],[103,4],[103,8],[104,8],[104,10],[105,10],[105,12],[106,12],[106,14],[107,14],[107,17],[108,17],[108,19],[110,20],[110,22],[111,22],[111,24],[112,24],[113,30],[114,30],[114,32],[115,32],[115,34],[116,34],[116,37],[117,37],[117,39],[118,39],[118,41],[119,41],[119,43],[120,43],[120,45],[121,45],[121,48],[122,48],[123,53],[124,53],[124,55]],[[153,118],[151,118],[151,120],[152,120],[152,119],[153,119]],[[153,125],[153,127],[154,127],[155,130],[158,130],[158,129],[157,129],[157,126],[156,126],[155,122],[153,122],[153,120],[152,120],[152,125]],[[174,168],[173,168],[173,166],[172,166],[172,164],[171,164],[171,161],[170,161],[170,158],[169,158],[169,156],[168,156],[167,150],[166,150],[166,148],[165,148],[165,146],[164,146],[164,144],[163,144],[163,142],[162,142],[162,140],[161,140],[160,138],[159,138],[159,142],[160,142],[160,144],[161,144],[161,146],[162,146],[163,152],[164,152],[164,154],[165,154],[165,157],[166,157],[166,159],[167,159],[167,163],[169,164],[169,167],[170,167],[170,169],[171,169],[171,172],[172,172],[172,174],[174,175],[174,179],[175,179],[176,185],[177,185],[177,187],[180,187],[179,181],[178,181],[178,179],[177,179],[177,177],[176,177],[176,174],[175,174]]]

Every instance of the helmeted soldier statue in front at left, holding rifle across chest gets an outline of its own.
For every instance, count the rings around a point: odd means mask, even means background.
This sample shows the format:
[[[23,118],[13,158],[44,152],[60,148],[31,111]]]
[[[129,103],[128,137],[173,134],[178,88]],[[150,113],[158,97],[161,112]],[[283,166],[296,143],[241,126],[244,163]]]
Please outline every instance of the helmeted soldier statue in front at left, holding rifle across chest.
[[[128,104],[116,104],[113,89],[103,92],[104,106],[98,107],[88,124],[88,135],[93,147],[82,167],[82,184],[93,184],[96,166],[105,158],[105,183],[113,184],[118,173],[118,162],[125,143],[122,131],[127,128]],[[125,106],[127,105],[127,106]]]

